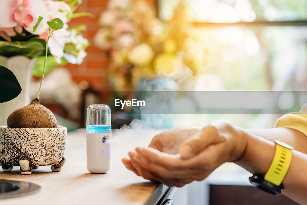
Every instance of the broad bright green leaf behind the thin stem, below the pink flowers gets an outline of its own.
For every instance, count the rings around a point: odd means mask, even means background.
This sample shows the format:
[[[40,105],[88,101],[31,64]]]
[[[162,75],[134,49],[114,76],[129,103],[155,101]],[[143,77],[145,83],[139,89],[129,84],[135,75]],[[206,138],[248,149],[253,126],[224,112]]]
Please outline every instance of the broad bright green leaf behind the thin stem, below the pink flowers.
[[[44,62],[45,62],[45,56],[37,56],[35,58],[34,69],[32,73],[33,76],[40,77],[43,74]],[[56,59],[52,55],[47,56],[45,74],[49,73],[55,66],[64,65],[66,62],[67,62],[66,59],[62,57],[61,62],[59,64],[56,62]]]

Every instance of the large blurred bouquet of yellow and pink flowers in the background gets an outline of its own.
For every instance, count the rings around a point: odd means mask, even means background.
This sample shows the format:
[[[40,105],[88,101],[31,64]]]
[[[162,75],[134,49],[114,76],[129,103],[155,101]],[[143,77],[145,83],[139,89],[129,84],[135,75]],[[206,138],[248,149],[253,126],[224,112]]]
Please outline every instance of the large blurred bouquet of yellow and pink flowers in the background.
[[[161,76],[177,84],[182,84],[183,78],[191,81],[203,52],[188,46],[185,5],[180,3],[174,17],[166,22],[157,18],[155,8],[146,0],[110,6],[117,1],[122,0],[110,0],[100,18],[102,28],[95,36],[96,45],[108,54],[109,72],[115,78],[110,82],[115,90],[133,90],[140,80]]]

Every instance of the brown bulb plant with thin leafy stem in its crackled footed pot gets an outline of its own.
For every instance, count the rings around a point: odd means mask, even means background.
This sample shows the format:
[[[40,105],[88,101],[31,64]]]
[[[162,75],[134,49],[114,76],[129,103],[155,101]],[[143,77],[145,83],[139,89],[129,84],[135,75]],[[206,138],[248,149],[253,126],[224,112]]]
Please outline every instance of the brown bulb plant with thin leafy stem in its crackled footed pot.
[[[43,17],[40,16],[33,26],[33,33],[42,20]],[[21,174],[30,175],[32,167],[51,165],[51,170],[57,172],[66,161],[64,149],[67,128],[57,126],[52,112],[39,102],[48,57],[48,42],[54,31],[64,26],[59,18],[54,18],[47,24],[49,28],[46,29],[45,63],[37,98],[14,111],[7,119],[7,127],[0,127],[0,166],[3,171],[11,171],[13,166],[20,166]]]

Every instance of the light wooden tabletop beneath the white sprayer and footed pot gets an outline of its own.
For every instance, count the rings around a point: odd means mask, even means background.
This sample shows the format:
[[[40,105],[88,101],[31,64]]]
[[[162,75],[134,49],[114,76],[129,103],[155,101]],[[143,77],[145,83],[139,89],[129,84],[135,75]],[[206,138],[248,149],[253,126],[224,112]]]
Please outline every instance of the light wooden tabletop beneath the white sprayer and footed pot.
[[[20,167],[11,172],[0,171],[0,179],[28,181],[39,184],[41,191],[27,196],[2,199],[0,204],[154,204],[168,189],[150,182],[126,169],[121,159],[135,147],[145,147],[160,131],[125,130],[112,134],[111,168],[106,174],[91,174],[86,168],[85,129],[68,133],[60,172],[50,166],[20,175]]]

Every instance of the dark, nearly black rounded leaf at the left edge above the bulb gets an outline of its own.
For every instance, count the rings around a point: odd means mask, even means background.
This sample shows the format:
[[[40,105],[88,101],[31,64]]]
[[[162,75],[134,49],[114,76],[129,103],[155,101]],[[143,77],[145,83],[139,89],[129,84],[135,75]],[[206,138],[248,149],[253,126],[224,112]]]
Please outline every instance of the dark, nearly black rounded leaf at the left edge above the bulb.
[[[14,73],[0,66],[0,102],[7,102],[21,93],[21,86]]]

